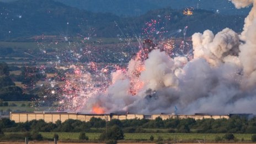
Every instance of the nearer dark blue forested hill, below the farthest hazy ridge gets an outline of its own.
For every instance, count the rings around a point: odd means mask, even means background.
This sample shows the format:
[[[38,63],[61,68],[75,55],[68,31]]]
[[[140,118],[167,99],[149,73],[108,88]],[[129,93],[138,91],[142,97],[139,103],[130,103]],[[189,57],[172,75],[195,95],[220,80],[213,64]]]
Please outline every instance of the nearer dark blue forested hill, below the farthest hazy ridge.
[[[146,23],[161,22],[156,29],[177,31],[188,26],[188,35],[210,29],[215,33],[226,27],[241,31],[245,16],[222,15],[194,9],[184,15],[183,9],[155,9],[140,17],[119,17],[111,13],[93,13],[52,0],[19,0],[0,2],[0,39],[10,40],[33,35],[98,36],[116,38],[142,35]]]

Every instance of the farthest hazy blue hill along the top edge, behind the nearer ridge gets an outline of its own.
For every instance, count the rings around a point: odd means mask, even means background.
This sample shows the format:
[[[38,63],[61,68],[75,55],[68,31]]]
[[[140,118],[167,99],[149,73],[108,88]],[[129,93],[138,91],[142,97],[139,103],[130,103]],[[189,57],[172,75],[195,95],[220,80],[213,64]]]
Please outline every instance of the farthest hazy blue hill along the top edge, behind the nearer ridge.
[[[123,16],[137,16],[152,9],[173,8],[210,10],[228,15],[247,15],[250,8],[236,9],[228,0],[55,0],[68,6],[86,9],[91,12],[109,12]],[[97,6],[97,7],[96,7]]]

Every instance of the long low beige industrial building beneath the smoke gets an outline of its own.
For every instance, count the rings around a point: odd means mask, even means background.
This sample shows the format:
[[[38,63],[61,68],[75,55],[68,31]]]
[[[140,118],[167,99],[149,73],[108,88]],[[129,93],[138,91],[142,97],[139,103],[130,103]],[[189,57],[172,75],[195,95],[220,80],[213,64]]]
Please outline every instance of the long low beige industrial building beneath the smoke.
[[[195,120],[199,119],[229,119],[229,115],[205,115],[205,114],[195,114],[195,115],[175,115],[175,114],[154,114],[154,115],[141,115],[141,114],[81,114],[81,113],[59,113],[59,112],[34,112],[34,113],[10,113],[10,120],[15,122],[26,122],[31,120],[44,120],[45,122],[56,122],[61,120],[62,122],[67,119],[89,121],[91,118],[100,118],[106,121],[111,119],[119,120],[129,120],[129,119],[150,119],[154,120],[158,117],[163,120],[166,119],[187,119],[192,118]]]

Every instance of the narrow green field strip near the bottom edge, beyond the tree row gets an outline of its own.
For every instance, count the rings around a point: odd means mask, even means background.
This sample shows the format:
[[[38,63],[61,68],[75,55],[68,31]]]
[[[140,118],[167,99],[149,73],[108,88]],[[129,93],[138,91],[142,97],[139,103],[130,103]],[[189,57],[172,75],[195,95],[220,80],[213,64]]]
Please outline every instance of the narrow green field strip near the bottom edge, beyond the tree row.
[[[54,134],[58,134],[60,140],[78,140],[78,132],[40,132],[45,138],[52,138]],[[86,133],[89,140],[98,140],[100,133]],[[177,141],[196,141],[205,140],[215,141],[215,137],[222,137],[225,134],[179,134],[179,133],[126,133],[125,140],[149,140],[150,136],[157,139],[159,136],[163,137],[164,140],[174,140]],[[250,141],[252,134],[234,134],[238,141],[242,138],[244,141]]]

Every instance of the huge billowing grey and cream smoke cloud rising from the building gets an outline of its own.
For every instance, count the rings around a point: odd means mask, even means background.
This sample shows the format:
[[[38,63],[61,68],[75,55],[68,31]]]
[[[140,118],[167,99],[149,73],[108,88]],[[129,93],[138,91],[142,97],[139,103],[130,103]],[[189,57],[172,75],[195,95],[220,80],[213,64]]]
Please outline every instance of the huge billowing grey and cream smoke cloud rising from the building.
[[[154,114],[255,113],[256,1],[232,0],[237,8],[254,4],[238,35],[224,29],[192,36],[194,58],[170,58],[159,49],[147,60],[131,60],[128,70],[112,73],[105,94],[91,97],[83,112],[94,106],[105,113],[129,111]]]

